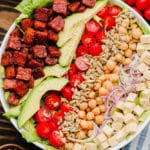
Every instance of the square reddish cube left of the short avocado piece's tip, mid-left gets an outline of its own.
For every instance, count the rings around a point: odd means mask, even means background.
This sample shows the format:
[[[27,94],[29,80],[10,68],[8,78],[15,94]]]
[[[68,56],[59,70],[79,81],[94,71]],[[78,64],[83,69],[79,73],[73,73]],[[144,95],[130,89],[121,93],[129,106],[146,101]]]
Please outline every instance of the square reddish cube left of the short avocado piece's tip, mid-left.
[[[32,75],[32,70],[30,68],[18,67],[16,79],[29,81]]]

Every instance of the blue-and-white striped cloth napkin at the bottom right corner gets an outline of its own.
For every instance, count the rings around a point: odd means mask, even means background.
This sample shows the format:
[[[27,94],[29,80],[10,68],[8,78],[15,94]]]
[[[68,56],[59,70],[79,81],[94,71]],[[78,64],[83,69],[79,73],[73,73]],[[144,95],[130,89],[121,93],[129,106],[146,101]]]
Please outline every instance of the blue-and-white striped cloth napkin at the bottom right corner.
[[[141,134],[122,150],[150,150],[150,122]]]

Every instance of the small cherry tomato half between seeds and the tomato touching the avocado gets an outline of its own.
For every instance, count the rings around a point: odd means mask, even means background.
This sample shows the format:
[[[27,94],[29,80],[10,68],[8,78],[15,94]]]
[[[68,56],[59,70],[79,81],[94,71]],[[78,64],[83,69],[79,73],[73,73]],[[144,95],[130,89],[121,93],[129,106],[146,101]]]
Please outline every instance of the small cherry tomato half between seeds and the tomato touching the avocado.
[[[53,115],[52,120],[58,125],[59,122],[63,122],[64,120],[64,114],[62,111],[55,112]]]

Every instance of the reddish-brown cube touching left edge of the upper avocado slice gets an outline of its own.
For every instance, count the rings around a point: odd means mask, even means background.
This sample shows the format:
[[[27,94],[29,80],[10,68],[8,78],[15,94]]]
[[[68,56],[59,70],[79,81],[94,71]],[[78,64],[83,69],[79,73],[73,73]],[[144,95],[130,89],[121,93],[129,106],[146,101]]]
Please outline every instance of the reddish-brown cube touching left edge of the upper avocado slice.
[[[57,16],[48,23],[48,26],[55,32],[59,32],[64,28],[64,24],[64,19],[61,16]]]

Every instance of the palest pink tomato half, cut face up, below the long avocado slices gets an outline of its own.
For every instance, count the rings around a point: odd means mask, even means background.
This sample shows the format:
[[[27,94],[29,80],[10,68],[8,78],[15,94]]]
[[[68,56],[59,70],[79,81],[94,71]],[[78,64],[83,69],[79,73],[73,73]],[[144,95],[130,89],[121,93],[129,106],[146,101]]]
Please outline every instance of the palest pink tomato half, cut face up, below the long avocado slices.
[[[89,68],[89,59],[85,56],[79,56],[75,60],[75,65],[80,71],[86,71]]]

